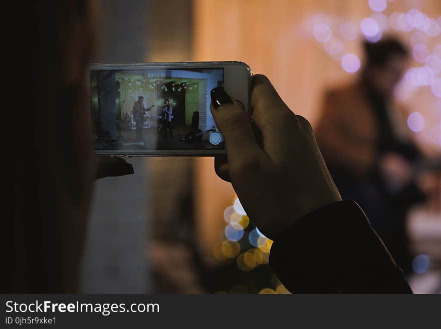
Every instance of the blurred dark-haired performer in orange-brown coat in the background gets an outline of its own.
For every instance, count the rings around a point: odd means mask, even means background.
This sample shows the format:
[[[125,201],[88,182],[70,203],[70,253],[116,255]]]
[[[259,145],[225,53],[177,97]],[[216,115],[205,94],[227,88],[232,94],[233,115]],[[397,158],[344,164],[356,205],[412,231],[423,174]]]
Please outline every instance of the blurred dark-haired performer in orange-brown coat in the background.
[[[358,79],[326,93],[316,138],[343,197],[357,201],[398,265],[410,269],[405,216],[424,195],[415,184],[421,158],[393,91],[407,49],[397,40],[364,43]]]

